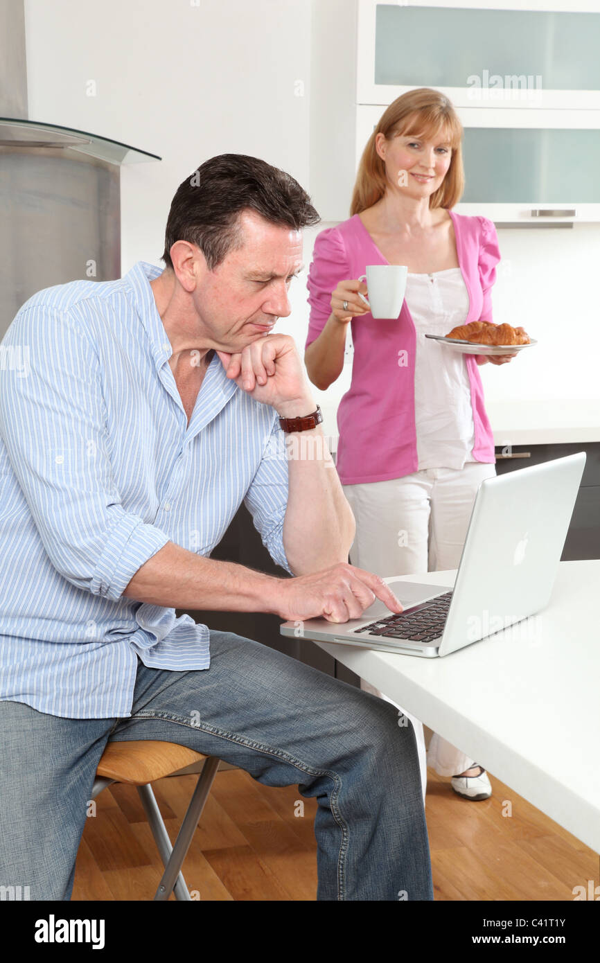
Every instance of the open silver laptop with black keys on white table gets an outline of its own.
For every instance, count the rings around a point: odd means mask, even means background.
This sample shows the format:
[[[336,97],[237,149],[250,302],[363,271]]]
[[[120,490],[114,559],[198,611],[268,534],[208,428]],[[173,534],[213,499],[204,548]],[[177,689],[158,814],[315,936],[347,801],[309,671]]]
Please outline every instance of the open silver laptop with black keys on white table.
[[[284,622],[299,635],[382,652],[447,656],[544,609],[550,600],[586,453],[521,468],[480,484],[454,586],[384,581],[403,605],[379,599],[360,618]]]

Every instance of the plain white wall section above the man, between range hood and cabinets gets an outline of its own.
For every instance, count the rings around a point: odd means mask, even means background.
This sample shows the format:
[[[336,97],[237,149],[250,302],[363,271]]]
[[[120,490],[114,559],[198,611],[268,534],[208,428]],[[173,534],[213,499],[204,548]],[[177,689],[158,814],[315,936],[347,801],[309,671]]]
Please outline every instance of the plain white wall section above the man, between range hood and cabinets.
[[[208,157],[257,155],[307,181],[307,0],[26,0],[25,13],[30,117],[163,157],[121,170],[123,270],[157,261],[170,199]]]

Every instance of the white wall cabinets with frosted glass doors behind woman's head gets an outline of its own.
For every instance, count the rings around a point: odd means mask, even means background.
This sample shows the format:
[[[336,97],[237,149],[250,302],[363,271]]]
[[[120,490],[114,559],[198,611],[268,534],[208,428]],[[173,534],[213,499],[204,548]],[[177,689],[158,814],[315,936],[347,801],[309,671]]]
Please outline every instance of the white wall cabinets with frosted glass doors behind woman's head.
[[[385,108],[416,87],[444,92],[464,127],[457,213],[533,226],[600,221],[600,0],[577,11],[525,6],[314,5],[310,189],[324,221],[349,217],[365,144]]]

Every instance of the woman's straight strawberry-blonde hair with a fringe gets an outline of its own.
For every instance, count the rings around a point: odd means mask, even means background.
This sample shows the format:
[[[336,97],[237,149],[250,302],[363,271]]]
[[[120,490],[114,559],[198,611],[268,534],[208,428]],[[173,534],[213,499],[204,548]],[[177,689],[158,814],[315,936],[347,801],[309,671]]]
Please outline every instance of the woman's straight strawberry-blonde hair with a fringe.
[[[420,87],[403,93],[389,105],[367,141],[352,192],[351,217],[376,204],[387,189],[385,164],[375,145],[378,134],[390,141],[403,135],[433,140],[440,133],[452,147],[452,159],[442,183],[430,196],[430,208],[454,207],[464,190],[462,124],[448,97],[429,87]]]

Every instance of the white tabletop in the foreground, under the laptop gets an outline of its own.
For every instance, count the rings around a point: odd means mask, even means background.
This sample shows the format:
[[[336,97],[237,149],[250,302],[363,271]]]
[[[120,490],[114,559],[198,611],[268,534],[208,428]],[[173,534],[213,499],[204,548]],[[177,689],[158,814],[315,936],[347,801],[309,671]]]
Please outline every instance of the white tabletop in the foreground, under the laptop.
[[[405,578],[454,585],[456,571]],[[600,852],[599,582],[600,560],[561,561],[527,631],[440,659],[315,644]]]

